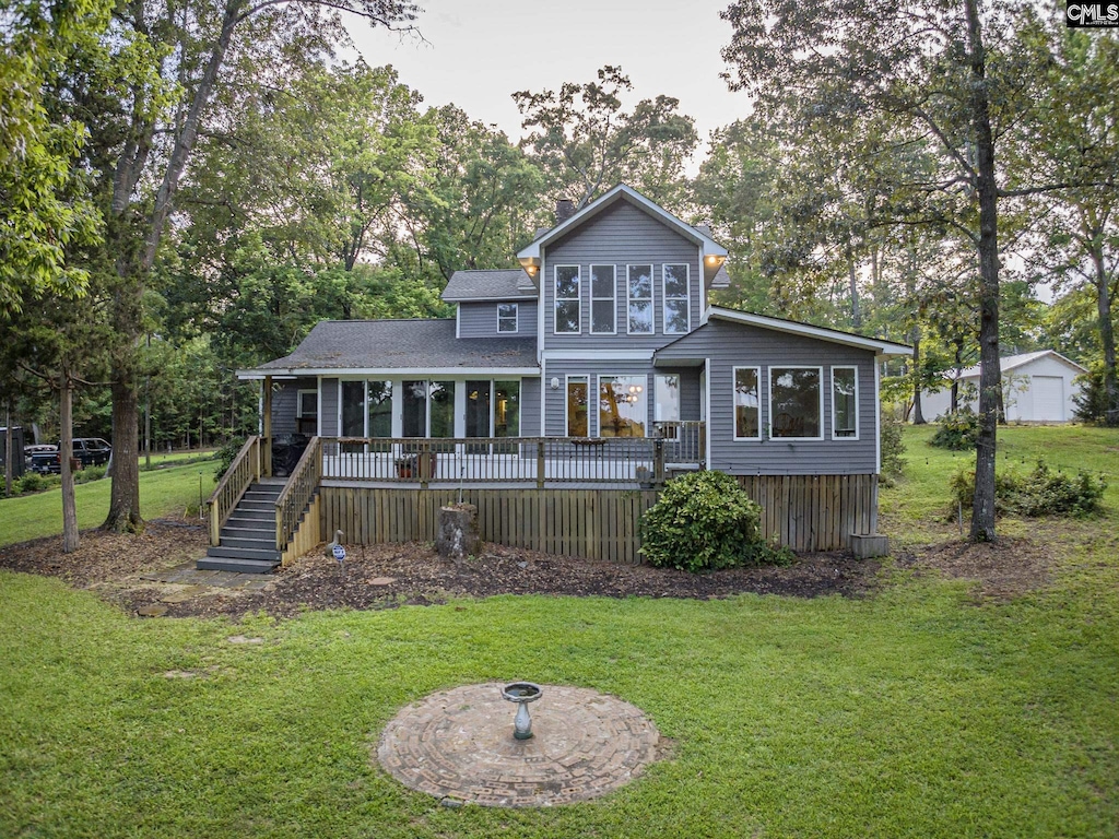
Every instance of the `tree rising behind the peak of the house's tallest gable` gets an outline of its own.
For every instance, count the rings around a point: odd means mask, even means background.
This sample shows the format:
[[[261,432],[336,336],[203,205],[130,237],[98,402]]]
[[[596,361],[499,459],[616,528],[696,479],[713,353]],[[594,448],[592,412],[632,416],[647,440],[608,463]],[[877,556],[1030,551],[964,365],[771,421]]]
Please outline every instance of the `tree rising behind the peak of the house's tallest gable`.
[[[626,111],[622,96],[632,88],[621,67],[606,65],[594,82],[513,94],[530,129],[521,142],[544,171],[549,197],[581,208],[624,181],[661,204],[680,202],[684,164],[698,142],[695,122],[665,95]]]

